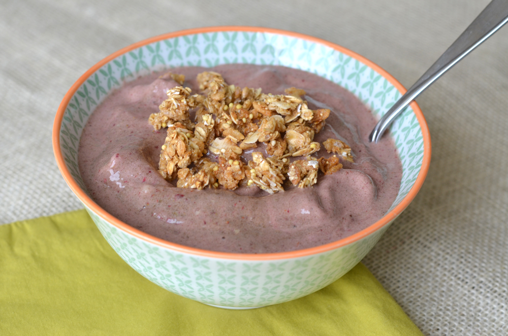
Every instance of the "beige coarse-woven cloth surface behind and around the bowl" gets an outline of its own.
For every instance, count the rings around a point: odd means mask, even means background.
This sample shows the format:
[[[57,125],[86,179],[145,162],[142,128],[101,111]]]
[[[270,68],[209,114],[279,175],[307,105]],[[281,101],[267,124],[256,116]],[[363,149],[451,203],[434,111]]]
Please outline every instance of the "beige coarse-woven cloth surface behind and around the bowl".
[[[124,46],[199,26],[282,28],[350,48],[408,87],[487,4],[1,0],[0,223],[81,208],[54,162],[53,117],[74,81]],[[363,260],[428,335],[508,334],[507,55],[504,27],[417,99],[427,180]]]

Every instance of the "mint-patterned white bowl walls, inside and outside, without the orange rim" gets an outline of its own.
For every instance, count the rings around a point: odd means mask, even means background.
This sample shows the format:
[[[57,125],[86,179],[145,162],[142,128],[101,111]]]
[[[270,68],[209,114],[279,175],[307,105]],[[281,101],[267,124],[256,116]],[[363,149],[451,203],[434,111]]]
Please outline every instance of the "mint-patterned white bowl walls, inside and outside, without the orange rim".
[[[111,90],[152,71],[227,63],[275,64],[312,72],[353,92],[378,117],[400,96],[386,78],[359,60],[283,33],[220,31],[161,40],[104,64],[72,97],[60,127],[60,149],[78,185],[86,192],[77,161],[82,127]],[[396,120],[391,132],[403,171],[399,193],[389,211],[415,184],[423,161],[422,130],[411,108]],[[88,208],[87,211],[109,244],[141,275],[179,295],[229,307],[277,304],[325,287],[351,270],[389,226],[347,246],[312,256],[242,261],[201,257],[156,246],[116,228]]]

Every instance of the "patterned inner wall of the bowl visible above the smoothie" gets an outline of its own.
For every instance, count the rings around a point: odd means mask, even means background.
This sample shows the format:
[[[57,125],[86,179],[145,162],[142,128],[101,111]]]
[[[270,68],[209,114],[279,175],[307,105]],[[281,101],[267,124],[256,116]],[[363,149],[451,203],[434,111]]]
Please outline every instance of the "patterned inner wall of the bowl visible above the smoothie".
[[[88,117],[109,92],[125,81],[153,71],[228,63],[283,65],[314,73],[354,93],[377,118],[396,102],[403,90],[393,77],[362,56],[296,33],[254,27],[212,27],[152,38],[99,62],[76,82],[60,105],[59,113],[63,115],[61,124],[56,125],[59,149],[75,183],[87,193],[78,169],[79,139]],[[402,161],[402,180],[397,198],[387,213],[411,190],[408,198],[414,197],[430,160],[428,129],[416,103],[405,110],[390,130]],[[428,150],[424,160],[425,146]],[[57,150],[56,156],[58,160]],[[415,190],[418,178],[420,185]],[[72,181],[67,182],[73,188]]]

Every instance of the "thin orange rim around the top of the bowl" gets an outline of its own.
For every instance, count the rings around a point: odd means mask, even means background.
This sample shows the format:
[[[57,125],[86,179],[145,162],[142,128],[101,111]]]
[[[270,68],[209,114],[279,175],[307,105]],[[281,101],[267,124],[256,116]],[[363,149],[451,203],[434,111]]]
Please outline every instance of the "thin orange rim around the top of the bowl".
[[[110,224],[114,225],[115,227],[119,228],[120,230],[132,234],[132,236],[137,237],[145,242],[149,242],[152,244],[155,244],[160,247],[168,248],[170,250],[173,250],[175,252],[180,253],[189,253],[197,256],[202,257],[210,257],[210,258],[220,258],[220,259],[235,259],[235,260],[276,260],[276,259],[289,259],[289,258],[298,258],[298,257],[305,257],[305,256],[311,256],[318,253],[327,252],[330,250],[334,250],[336,248],[357,242],[367,236],[369,234],[377,231],[378,229],[382,228],[383,226],[390,223],[392,220],[394,220],[408,205],[411,203],[411,201],[415,198],[416,194],[422,187],[422,184],[425,180],[425,177],[427,176],[427,172],[429,170],[430,165],[430,156],[431,156],[431,143],[430,143],[430,134],[429,129],[427,127],[427,122],[425,121],[425,117],[423,116],[422,111],[420,110],[420,107],[416,102],[411,103],[411,108],[414,111],[418,122],[420,124],[420,128],[422,129],[422,136],[423,136],[423,143],[424,143],[424,154],[423,154],[423,161],[422,161],[422,167],[420,170],[420,173],[418,174],[418,177],[416,179],[415,184],[411,187],[408,194],[401,200],[401,202],[389,213],[387,213],[385,216],[383,216],[381,219],[379,219],[374,224],[368,226],[367,228],[353,234],[352,236],[343,238],[341,240],[328,243],[325,245],[315,246],[307,249],[302,250],[296,250],[296,251],[289,251],[289,252],[277,252],[277,253],[260,253],[260,254],[244,254],[244,253],[229,253],[229,252],[216,252],[216,251],[209,251],[209,250],[203,250],[193,247],[187,247],[184,245],[179,245],[175,243],[171,243],[168,241],[165,241],[160,238],[156,238],[154,236],[151,236],[148,233],[145,233],[143,231],[140,231],[129,224],[126,224],[113,215],[109,214],[107,211],[102,209],[99,205],[97,205],[76,183],[74,178],[71,176],[65,161],[63,159],[61,150],[60,150],[60,126],[63,119],[63,114],[65,113],[65,110],[71,100],[71,98],[74,96],[78,88],[96,71],[98,71],[104,64],[108,63],[109,61],[115,59],[116,57],[125,54],[126,52],[129,52],[133,49],[142,47],[144,45],[176,38],[184,35],[193,35],[197,33],[205,33],[205,32],[217,32],[217,31],[248,31],[248,32],[267,32],[267,33],[276,33],[279,35],[285,35],[289,37],[295,37],[301,40],[309,41],[318,43],[321,45],[328,46],[330,48],[333,48],[343,54],[346,54],[348,56],[351,56],[352,58],[355,58],[362,63],[370,66],[370,68],[374,69],[377,73],[385,77],[395,88],[397,88],[400,92],[404,93],[406,89],[400,84],[393,76],[391,76],[388,72],[386,72],[383,68],[381,68],[379,65],[373,63],[372,61],[368,60],[367,58],[349,50],[344,47],[341,47],[337,44],[328,42],[326,40],[318,39],[315,37],[311,37],[308,35],[304,35],[301,33],[293,32],[293,31],[287,31],[287,30],[281,30],[281,29],[272,29],[272,28],[264,28],[264,27],[251,27],[251,26],[213,26],[213,27],[203,27],[203,28],[194,28],[194,29],[186,29],[186,30],[179,30],[171,33],[166,33],[163,35],[155,36],[137,43],[134,43],[128,47],[125,47],[123,49],[118,50],[117,52],[109,55],[108,57],[104,58],[97,64],[93,65],[87,72],[85,72],[77,81],[74,83],[74,85],[69,89],[65,97],[63,97],[62,102],[60,103],[60,106],[58,107],[58,111],[56,113],[55,121],[53,123],[53,151],[55,154],[56,163],[58,165],[58,169],[60,170],[63,178],[71,188],[71,190],[76,194],[76,196],[81,200],[81,202],[89,208],[94,213],[98,214],[100,217],[102,217],[104,220],[109,222]]]

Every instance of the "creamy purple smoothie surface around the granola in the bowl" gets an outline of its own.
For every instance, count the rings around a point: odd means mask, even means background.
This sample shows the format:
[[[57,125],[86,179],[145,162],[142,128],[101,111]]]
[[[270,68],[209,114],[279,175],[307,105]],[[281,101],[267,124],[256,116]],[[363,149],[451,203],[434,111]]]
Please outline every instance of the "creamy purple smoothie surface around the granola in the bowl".
[[[396,198],[402,166],[390,137],[368,141],[376,121],[352,93],[319,76],[282,66],[231,64],[212,69],[183,67],[184,87],[200,93],[196,76],[221,74],[228,84],[284,94],[305,90],[309,109],[330,109],[314,142],[339,139],[351,146],[354,162],[331,174],[319,172],[317,183],[297,188],[288,181],[275,194],[245,181],[231,191],[178,188],[159,173],[166,129],[154,130],[150,114],[159,112],[167,91],[180,86],[161,73],[125,83],[93,112],[83,129],[79,169],[89,195],[121,221],[169,242],[212,251],[272,253],[319,246],[351,236],[379,220]],[[191,120],[194,115],[191,112]],[[269,156],[263,146],[244,150]],[[322,145],[313,153],[329,158]],[[208,152],[210,160],[215,155]],[[291,158],[301,159],[299,158]]]

